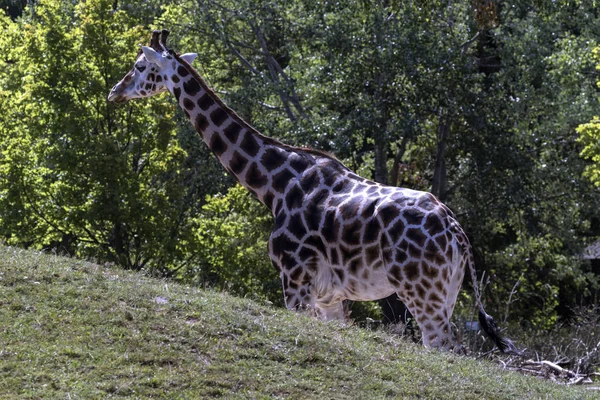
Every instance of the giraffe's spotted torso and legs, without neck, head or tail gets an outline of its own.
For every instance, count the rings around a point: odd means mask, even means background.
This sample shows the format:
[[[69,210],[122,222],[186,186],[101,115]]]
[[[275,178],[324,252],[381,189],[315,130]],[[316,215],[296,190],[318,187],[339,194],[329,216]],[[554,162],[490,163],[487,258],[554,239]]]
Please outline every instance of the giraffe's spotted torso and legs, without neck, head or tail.
[[[286,305],[342,318],[343,300],[397,293],[425,345],[452,346],[449,318],[469,253],[450,210],[430,193],[379,185],[334,160],[307,168],[288,193],[298,184],[307,189],[303,206],[274,210],[269,241]]]

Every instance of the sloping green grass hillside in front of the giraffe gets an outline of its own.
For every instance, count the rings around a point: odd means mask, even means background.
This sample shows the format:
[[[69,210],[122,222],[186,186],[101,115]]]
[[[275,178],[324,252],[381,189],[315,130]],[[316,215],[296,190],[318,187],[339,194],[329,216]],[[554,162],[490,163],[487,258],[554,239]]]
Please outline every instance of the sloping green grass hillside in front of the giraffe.
[[[427,350],[386,332],[0,246],[3,399],[593,394]]]

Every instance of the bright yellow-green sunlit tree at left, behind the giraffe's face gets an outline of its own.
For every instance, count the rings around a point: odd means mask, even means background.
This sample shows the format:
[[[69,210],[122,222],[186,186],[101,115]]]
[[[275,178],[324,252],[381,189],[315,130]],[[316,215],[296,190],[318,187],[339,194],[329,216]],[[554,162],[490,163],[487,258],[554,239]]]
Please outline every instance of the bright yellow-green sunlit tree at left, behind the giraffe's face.
[[[147,36],[112,4],[46,0],[3,20],[2,231],[8,243],[168,268],[186,257],[197,193],[174,106],[106,101]]]

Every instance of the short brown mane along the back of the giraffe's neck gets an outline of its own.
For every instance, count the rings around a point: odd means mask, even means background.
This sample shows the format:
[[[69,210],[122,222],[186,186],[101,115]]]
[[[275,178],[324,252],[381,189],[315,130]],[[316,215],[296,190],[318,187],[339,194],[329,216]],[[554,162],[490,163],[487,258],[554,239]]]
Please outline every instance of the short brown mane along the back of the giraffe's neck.
[[[217,104],[219,104],[219,106],[221,106],[224,110],[226,110],[228,113],[230,113],[230,115],[236,120],[237,123],[239,123],[241,126],[245,127],[246,129],[252,131],[258,137],[260,137],[262,140],[264,140],[265,143],[275,145],[277,147],[281,147],[286,150],[290,150],[290,151],[294,151],[294,152],[309,153],[309,154],[312,154],[315,156],[328,158],[328,159],[333,160],[333,161],[337,162],[338,164],[340,164],[340,166],[342,166],[344,169],[348,169],[340,160],[338,160],[333,154],[331,154],[327,151],[312,149],[310,147],[288,145],[288,144],[280,142],[279,140],[277,140],[275,138],[272,138],[272,137],[262,134],[256,128],[254,128],[252,125],[250,125],[248,122],[246,122],[242,117],[240,117],[227,104],[225,104],[225,102],[223,102],[223,100],[215,93],[215,91],[212,90],[210,88],[210,86],[208,86],[208,84],[206,83],[206,80],[204,78],[202,78],[202,76],[200,76],[198,71],[196,71],[196,69],[194,67],[192,67],[189,63],[187,63],[184,59],[182,59],[180,57],[179,53],[172,52],[172,54],[175,57],[175,59],[177,59],[177,61],[179,61],[190,72],[190,74],[192,74],[192,76],[194,78],[196,78],[196,80],[198,80],[198,83],[200,83],[202,88],[204,90],[206,90],[206,93],[208,93],[208,95],[210,97],[212,97],[215,100],[215,102],[217,102]]]

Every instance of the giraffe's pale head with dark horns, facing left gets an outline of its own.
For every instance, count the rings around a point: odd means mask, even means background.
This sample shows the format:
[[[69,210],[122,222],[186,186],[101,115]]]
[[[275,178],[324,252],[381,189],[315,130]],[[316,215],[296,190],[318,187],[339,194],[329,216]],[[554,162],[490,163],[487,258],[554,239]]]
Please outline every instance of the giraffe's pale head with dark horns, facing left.
[[[150,97],[170,89],[172,79],[177,76],[178,62],[172,50],[166,46],[169,31],[152,32],[149,46],[142,46],[131,71],[117,83],[108,101],[124,103],[130,99]],[[179,56],[188,64],[196,58],[195,53]]]

